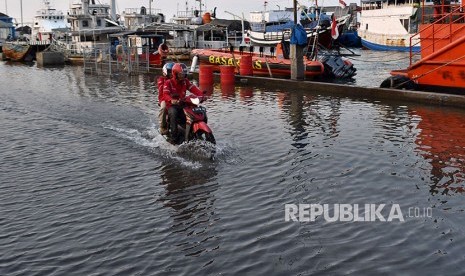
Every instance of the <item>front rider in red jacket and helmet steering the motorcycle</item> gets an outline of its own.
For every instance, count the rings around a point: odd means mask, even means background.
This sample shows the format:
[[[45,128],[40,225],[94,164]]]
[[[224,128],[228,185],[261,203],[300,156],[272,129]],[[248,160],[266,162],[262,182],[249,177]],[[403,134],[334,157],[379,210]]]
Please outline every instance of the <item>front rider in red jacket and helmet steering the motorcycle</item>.
[[[186,97],[186,91],[202,96],[200,89],[187,79],[187,66],[184,63],[175,63],[171,69],[172,77],[165,81],[163,99],[169,115],[169,129],[172,140],[178,138],[178,122],[186,123],[186,116],[180,103]],[[189,135],[190,125],[186,125],[186,136]],[[187,139],[186,139],[187,141]]]

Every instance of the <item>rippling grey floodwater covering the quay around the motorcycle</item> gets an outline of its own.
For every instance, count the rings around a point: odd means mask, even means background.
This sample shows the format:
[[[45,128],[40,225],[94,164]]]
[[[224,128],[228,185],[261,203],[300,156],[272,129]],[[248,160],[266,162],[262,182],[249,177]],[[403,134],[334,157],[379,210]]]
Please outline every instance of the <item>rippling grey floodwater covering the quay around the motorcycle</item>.
[[[464,110],[215,86],[210,160],[158,134],[153,76],[0,79],[0,275],[465,274]]]

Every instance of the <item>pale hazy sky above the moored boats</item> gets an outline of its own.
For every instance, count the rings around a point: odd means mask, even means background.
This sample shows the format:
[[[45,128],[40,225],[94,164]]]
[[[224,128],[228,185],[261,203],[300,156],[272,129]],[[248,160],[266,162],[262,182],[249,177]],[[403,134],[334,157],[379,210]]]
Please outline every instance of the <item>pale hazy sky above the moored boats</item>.
[[[69,10],[72,3],[79,3],[80,0],[50,0],[52,8],[63,11],[65,14]],[[96,3],[110,4],[111,0],[95,0]],[[126,8],[140,8],[141,6],[149,7],[150,0],[116,0],[116,13],[121,14]],[[152,8],[160,9],[167,19],[173,17],[178,10],[186,10],[186,2],[189,10],[199,7],[198,0],[152,0]],[[202,0],[204,8],[202,10],[213,11],[216,7],[216,16],[218,18],[232,19],[233,16],[225,11],[231,12],[235,15],[244,16],[249,18],[249,12],[262,11],[264,9],[264,2],[267,2],[267,10],[284,9],[285,7],[292,7],[293,0]],[[356,2],[356,0],[345,0],[347,4]],[[311,6],[314,1],[300,0],[302,5]],[[319,6],[335,6],[338,0],[318,0]],[[23,23],[31,23],[37,10],[43,7],[43,0],[22,0],[23,7]],[[21,22],[21,0],[0,0],[0,12],[9,15],[16,19],[18,23]]]

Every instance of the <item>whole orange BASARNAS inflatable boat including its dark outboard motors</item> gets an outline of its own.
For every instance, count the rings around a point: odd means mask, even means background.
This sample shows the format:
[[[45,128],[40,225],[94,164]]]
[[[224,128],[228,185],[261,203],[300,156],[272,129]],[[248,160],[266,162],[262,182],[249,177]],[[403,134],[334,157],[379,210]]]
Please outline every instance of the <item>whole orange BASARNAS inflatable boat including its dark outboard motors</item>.
[[[291,75],[291,60],[289,59],[289,46],[286,42],[277,45],[276,55],[231,49],[194,49],[192,55],[197,57],[200,65],[211,65],[213,71],[219,72],[221,65],[230,65],[240,68],[243,56],[252,56],[252,73],[254,76],[270,76],[289,78]],[[195,60],[195,58],[194,58]],[[195,63],[195,62],[194,62]],[[326,63],[326,64],[325,64]],[[340,56],[324,56],[322,60],[304,56],[304,75],[306,78],[338,77],[350,78],[355,75],[356,69],[349,61],[342,61]]]

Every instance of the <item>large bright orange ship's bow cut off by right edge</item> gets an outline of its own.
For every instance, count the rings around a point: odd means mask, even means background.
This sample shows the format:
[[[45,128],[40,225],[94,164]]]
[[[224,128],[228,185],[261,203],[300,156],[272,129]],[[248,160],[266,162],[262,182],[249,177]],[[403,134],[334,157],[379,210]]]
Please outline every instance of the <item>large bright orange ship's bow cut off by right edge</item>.
[[[419,40],[421,51],[415,53],[413,48],[417,45],[412,44],[410,65],[391,71],[391,77],[381,87],[465,93],[464,5],[433,8],[433,13],[423,10],[419,32],[411,37],[412,41]]]

